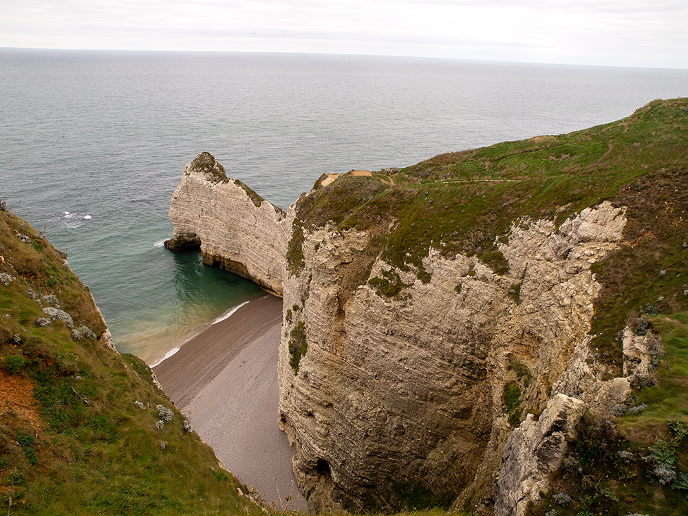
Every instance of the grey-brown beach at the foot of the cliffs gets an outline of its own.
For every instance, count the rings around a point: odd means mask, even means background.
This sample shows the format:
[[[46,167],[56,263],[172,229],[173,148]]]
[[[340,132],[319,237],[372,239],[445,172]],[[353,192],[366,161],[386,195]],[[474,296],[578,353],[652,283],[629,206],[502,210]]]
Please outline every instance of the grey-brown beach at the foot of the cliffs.
[[[255,486],[278,509],[288,504],[305,512],[308,505],[292,471],[293,449],[277,424],[281,323],[279,297],[250,301],[153,371],[167,396],[189,413],[193,429],[243,484]]]

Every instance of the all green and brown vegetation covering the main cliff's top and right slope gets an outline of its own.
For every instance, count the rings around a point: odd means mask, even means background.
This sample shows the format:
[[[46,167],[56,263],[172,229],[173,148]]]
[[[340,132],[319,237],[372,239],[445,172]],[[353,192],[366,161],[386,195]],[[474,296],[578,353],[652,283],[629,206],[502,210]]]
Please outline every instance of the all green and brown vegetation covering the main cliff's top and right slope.
[[[304,233],[326,224],[366,230],[378,246],[371,263],[381,255],[427,281],[429,248],[477,255],[506,273],[496,243],[508,241],[513,222],[546,218],[558,226],[603,200],[627,206],[628,222],[619,250],[593,267],[603,285],[594,301],[594,360],[608,365],[610,378],[621,376],[619,332],[636,320],[661,336],[665,356],[656,385],[636,385],[630,410],[585,418],[550,496],[530,510],[688,513],[688,99],[656,100],[610,124],[442,154],[394,173],[345,174],[301,197],[297,217]],[[291,263],[297,274],[303,256]],[[404,286],[384,274],[361,281],[398,295]],[[517,424],[530,377],[514,367],[505,404]]]

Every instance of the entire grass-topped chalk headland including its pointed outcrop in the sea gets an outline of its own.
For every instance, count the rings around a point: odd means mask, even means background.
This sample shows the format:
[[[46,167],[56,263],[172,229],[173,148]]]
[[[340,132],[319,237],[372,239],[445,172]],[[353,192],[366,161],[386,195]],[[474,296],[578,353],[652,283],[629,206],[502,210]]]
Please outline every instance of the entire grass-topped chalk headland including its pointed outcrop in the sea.
[[[645,507],[610,464],[667,436],[686,457],[688,427],[623,415],[663,388],[660,330],[688,311],[673,281],[687,128],[687,100],[658,100],[567,135],[323,176],[287,213],[208,153],[186,166],[166,245],[283,296],[279,425],[311,510]],[[623,474],[685,503],[658,461]]]

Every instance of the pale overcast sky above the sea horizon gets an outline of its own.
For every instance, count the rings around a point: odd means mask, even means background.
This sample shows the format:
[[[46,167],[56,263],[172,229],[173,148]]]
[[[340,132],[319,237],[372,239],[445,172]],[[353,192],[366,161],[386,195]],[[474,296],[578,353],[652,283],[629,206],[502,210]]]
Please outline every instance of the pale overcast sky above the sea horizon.
[[[0,47],[688,68],[688,1],[0,0]]]

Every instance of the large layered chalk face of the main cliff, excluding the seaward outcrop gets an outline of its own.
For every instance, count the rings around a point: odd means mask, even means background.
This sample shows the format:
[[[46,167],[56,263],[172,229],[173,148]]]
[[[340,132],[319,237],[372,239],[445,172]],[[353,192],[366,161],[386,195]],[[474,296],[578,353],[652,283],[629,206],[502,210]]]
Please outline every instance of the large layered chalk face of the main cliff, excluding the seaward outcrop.
[[[381,259],[374,232],[303,230],[303,268],[284,281],[280,424],[311,508],[442,502],[493,485],[509,417],[547,406],[590,330],[590,269],[625,222],[609,202],[559,228],[524,218],[495,238],[508,273],[431,249],[427,283]],[[352,288],[368,268],[402,288]]]

